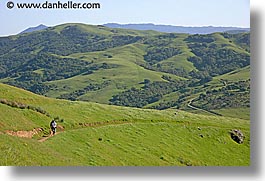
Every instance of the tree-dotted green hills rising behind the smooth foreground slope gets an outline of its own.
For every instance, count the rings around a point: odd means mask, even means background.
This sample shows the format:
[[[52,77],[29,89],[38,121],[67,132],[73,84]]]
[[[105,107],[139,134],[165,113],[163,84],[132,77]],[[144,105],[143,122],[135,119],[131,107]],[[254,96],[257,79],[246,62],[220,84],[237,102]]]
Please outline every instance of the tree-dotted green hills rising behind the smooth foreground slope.
[[[53,98],[203,113],[192,102],[249,119],[249,39],[63,24],[0,37],[0,82]],[[213,102],[213,90],[230,102]],[[222,111],[230,108],[239,114]]]

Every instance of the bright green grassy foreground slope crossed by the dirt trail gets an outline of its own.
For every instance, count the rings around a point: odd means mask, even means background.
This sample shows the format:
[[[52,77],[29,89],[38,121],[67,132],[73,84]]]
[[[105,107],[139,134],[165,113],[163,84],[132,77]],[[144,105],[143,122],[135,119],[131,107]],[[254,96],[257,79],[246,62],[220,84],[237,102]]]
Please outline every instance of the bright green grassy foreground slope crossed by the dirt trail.
[[[0,165],[250,164],[249,120],[57,100],[5,84],[0,84],[0,98],[31,106],[0,104]],[[40,142],[54,117],[62,129]],[[8,134],[34,128],[44,131],[33,138]],[[244,133],[243,144],[231,139],[232,129]]]

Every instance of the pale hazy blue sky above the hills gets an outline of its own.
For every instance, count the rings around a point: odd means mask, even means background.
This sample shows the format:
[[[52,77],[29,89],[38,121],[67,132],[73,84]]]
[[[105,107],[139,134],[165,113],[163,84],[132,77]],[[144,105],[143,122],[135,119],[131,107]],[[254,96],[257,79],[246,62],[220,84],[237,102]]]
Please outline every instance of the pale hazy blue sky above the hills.
[[[250,27],[249,0],[72,0],[99,2],[101,8],[93,10],[8,9],[8,1],[43,3],[46,0],[1,0],[0,36],[17,34],[39,24],[54,26],[67,22]]]

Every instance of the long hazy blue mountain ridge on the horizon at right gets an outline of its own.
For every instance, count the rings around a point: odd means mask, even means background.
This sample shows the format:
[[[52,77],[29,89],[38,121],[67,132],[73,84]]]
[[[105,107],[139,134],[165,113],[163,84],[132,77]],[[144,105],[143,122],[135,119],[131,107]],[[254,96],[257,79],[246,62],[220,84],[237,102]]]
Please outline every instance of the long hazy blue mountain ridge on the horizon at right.
[[[155,25],[152,23],[147,24],[118,24],[107,23],[103,26],[109,28],[122,28],[133,30],[154,30],[165,33],[188,33],[188,34],[210,34],[215,32],[249,32],[250,28],[240,27],[214,27],[214,26],[202,26],[202,27],[186,27],[186,26],[172,26],[172,25]]]

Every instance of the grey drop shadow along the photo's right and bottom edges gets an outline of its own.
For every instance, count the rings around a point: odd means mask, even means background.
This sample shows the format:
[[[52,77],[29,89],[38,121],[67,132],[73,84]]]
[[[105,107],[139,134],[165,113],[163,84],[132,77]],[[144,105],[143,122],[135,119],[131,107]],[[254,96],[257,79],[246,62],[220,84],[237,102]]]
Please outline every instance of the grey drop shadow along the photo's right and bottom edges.
[[[15,179],[48,177],[259,177],[261,170],[261,12],[251,12],[251,166],[249,167],[12,167]]]

